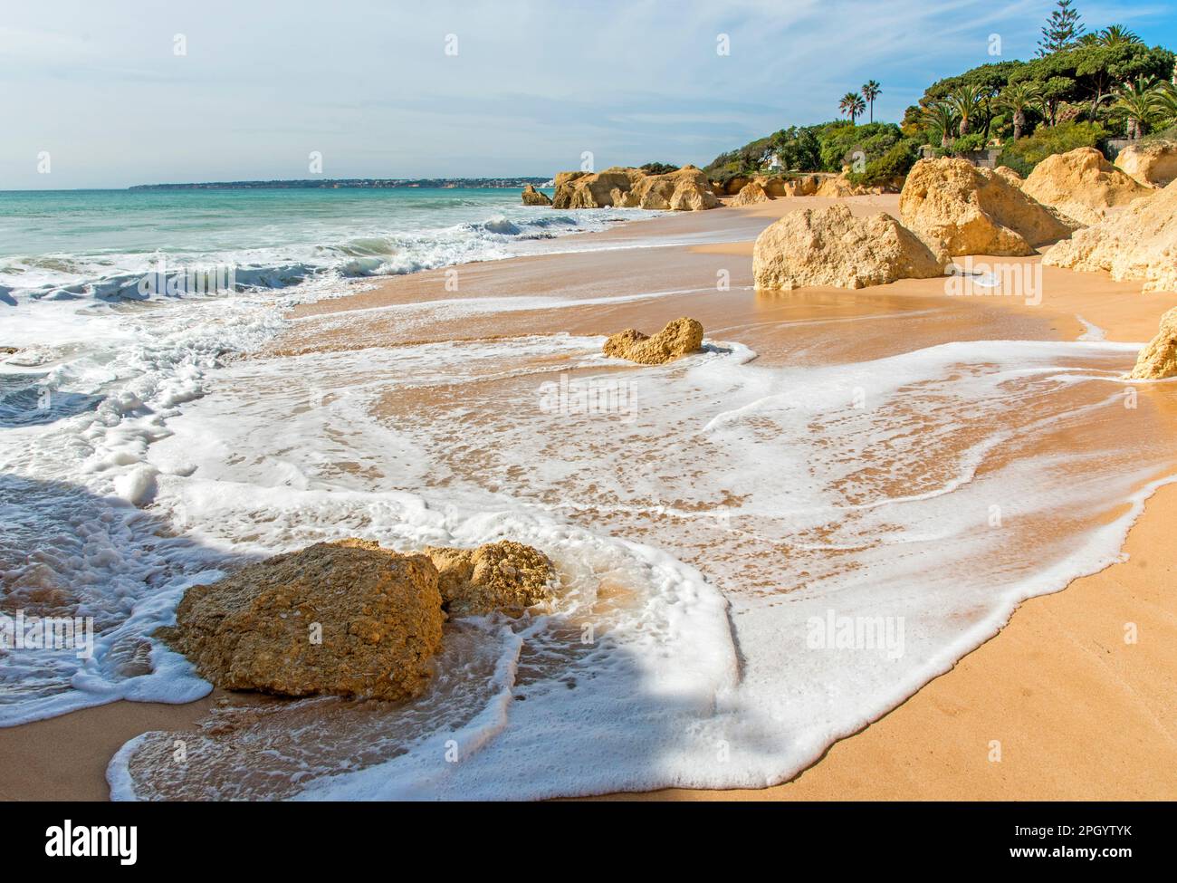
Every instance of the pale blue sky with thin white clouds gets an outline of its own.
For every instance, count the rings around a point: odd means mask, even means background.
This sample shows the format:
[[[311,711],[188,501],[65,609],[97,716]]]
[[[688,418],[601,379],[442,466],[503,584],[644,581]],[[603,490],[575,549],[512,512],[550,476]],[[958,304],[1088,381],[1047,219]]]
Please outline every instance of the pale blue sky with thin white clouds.
[[[1177,47],[1171,0],[1086,2]],[[0,190],[705,165],[1033,55],[1052,0],[40,0],[0,18]],[[991,54],[999,36],[999,55]],[[729,52],[722,54],[724,38]],[[312,171],[312,154],[321,172]],[[47,170],[47,171],[46,171]]]

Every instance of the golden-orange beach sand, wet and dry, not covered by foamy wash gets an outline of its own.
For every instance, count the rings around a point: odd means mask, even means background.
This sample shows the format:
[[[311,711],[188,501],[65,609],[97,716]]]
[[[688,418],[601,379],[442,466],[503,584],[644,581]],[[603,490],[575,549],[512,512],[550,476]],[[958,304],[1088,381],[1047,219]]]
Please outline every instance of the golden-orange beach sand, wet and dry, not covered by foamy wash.
[[[837,201],[863,215],[896,214],[897,200],[879,195]],[[784,212],[832,201],[777,199],[750,210],[725,207],[621,225],[570,238],[559,252],[461,265],[457,291],[447,287],[454,278],[448,271],[393,277],[354,296],[299,306],[288,330],[261,356],[293,360],[305,353],[428,341],[596,336],[623,327],[652,332],[689,316],[703,323],[709,339],[754,351],[756,364],[789,366],[804,360],[836,366],[953,341],[1076,340],[1096,333],[1108,341],[1143,343],[1155,333],[1159,316],[1177,305],[1177,294],[1145,294],[1138,283],[1053,267],[1042,271],[1037,304],[980,290],[947,297],[944,279],[859,291],[754,291],[756,234]],[[590,251],[586,244],[597,248]],[[995,260],[1031,268],[1040,261],[1038,257]],[[387,310],[501,298],[518,298],[518,308],[455,307],[452,314],[432,311],[412,321],[404,312]],[[554,306],[541,298],[561,303]],[[834,321],[853,323],[853,333],[830,337],[829,323]],[[472,383],[487,404],[467,405],[471,419],[490,425],[497,394],[510,391],[513,380],[488,376]],[[1169,438],[1177,429],[1177,399],[1171,392],[1171,384],[1142,384],[1138,390],[1142,413],[1168,429]],[[443,406],[445,394],[431,392],[417,400],[390,396],[380,407],[394,420],[423,404]],[[1104,433],[1117,432],[1113,421],[1105,421],[1092,427],[1091,438],[1063,431],[1051,436],[1050,444],[1083,450]],[[458,476],[476,467],[457,456],[451,465]],[[1169,467],[1177,471],[1177,447]],[[1162,477],[1163,471],[1151,479]],[[594,514],[573,517],[591,522]],[[1177,487],[1161,487],[1128,535],[1125,560],[1076,579],[1063,591],[1024,602],[998,635],[898,708],[836,742],[790,782],[751,790],[673,789],[612,797],[1177,798],[1177,778],[1162,772],[1177,769],[1177,683],[1171,677],[1177,668],[1177,598],[1171,591],[1177,549],[1169,540],[1175,517]],[[660,532],[649,535],[640,525],[630,526],[627,536],[646,542],[663,542],[672,533],[666,524],[651,527]],[[1051,530],[1045,520],[1033,529]],[[686,537],[674,553],[705,570],[706,558],[692,551]],[[752,584],[757,578],[750,571]],[[218,693],[186,705],[118,702],[0,729],[0,765],[6,770],[0,797],[105,799],[106,765],[127,739],[149,730],[193,731],[224,702],[235,699]],[[46,751],[46,745],[53,750]]]

